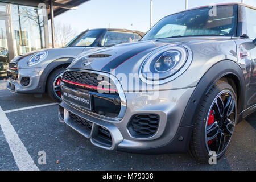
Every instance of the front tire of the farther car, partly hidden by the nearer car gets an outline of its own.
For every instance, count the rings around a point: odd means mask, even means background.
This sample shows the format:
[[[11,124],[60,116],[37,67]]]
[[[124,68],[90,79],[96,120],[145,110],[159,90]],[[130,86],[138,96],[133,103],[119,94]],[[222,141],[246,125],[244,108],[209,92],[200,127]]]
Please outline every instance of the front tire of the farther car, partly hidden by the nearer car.
[[[60,95],[60,91],[57,91],[57,83],[56,81],[59,77],[62,77],[62,74],[64,72],[65,69],[63,68],[59,68],[56,69],[55,71],[53,71],[51,73],[51,75],[49,75],[48,77],[48,81],[47,81],[47,93],[49,94],[49,96],[55,100],[56,102],[61,102],[61,95]],[[60,81],[59,81],[60,82]],[[55,85],[55,89],[54,86]]]

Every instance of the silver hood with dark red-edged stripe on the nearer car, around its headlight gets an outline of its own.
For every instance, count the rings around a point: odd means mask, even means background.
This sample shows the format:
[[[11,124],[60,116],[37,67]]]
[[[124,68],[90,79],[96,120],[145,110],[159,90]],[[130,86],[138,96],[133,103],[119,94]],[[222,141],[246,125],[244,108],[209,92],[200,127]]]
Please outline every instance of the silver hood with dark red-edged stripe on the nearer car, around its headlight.
[[[180,73],[181,75],[171,82],[161,84],[159,89],[195,86],[205,71],[217,61],[237,60],[236,43],[230,37],[169,38],[119,44],[84,53],[83,56],[77,56],[68,69],[87,69],[111,73],[121,80],[119,77],[130,77],[130,73],[140,74],[147,56],[150,56],[156,49],[173,45],[182,45],[188,49],[191,64],[188,65],[187,71]],[[97,56],[97,54],[100,54],[100,56]],[[141,80],[138,80],[136,84],[143,85]]]

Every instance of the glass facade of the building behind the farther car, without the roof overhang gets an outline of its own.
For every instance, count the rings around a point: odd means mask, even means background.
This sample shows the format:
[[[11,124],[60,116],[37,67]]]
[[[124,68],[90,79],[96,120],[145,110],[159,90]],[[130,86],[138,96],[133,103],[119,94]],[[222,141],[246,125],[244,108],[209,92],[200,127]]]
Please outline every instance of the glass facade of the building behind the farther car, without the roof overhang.
[[[0,80],[13,57],[48,47],[44,21],[43,9],[0,3]]]

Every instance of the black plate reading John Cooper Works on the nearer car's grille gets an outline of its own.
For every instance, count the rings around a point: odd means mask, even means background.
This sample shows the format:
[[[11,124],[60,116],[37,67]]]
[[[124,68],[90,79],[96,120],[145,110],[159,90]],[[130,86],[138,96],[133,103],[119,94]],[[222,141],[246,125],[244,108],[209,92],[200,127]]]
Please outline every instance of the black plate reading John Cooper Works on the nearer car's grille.
[[[63,88],[63,100],[81,109],[92,110],[91,96],[88,93]]]

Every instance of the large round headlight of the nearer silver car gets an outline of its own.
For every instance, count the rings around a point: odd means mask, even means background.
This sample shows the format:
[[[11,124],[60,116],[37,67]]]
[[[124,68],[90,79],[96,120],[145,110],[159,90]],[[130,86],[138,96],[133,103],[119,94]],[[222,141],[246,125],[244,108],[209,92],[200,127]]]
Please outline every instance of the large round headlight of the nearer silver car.
[[[183,46],[164,46],[147,56],[142,65],[141,78],[151,84],[154,84],[154,81],[170,81],[170,77],[183,69],[187,60],[187,48]],[[187,64],[187,67],[189,64]]]

